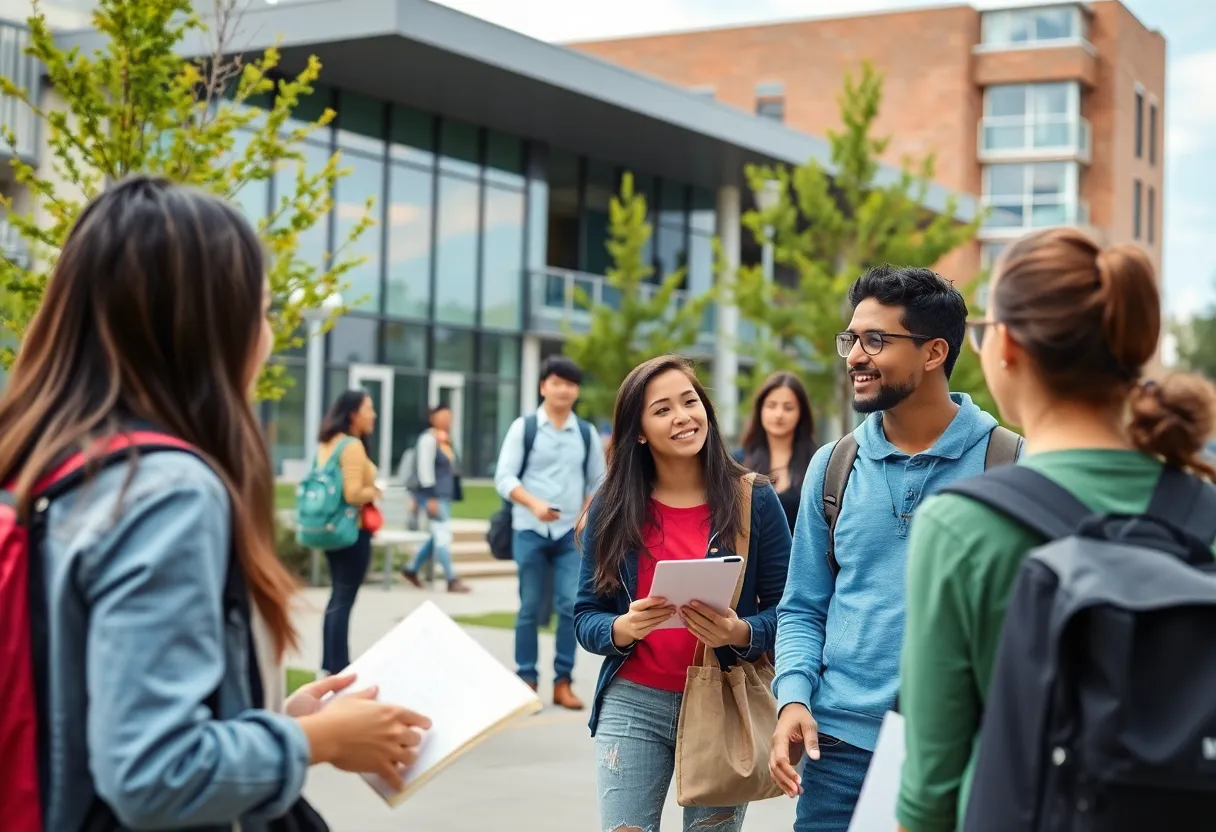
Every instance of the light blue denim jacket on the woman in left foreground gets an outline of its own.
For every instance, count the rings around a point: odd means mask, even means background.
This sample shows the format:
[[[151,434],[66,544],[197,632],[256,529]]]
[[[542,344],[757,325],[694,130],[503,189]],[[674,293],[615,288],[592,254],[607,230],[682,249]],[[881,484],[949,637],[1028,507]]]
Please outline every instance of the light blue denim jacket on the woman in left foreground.
[[[100,798],[123,828],[261,832],[299,797],[310,751],[295,720],[249,705],[246,625],[223,612],[227,493],[185,452],[129,473],[111,466],[47,512],[45,826],[81,828]]]

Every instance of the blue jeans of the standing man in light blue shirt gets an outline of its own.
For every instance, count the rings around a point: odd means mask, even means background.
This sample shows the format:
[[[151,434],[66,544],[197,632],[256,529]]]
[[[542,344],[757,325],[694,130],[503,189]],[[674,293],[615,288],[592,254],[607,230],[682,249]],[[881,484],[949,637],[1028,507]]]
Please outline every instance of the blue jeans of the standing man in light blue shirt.
[[[579,592],[579,550],[574,530],[557,540],[535,532],[516,532],[512,545],[519,569],[519,614],[516,617],[516,667],[519,678],[536,684],[540,656],[537,629],[548,609],[545,574],[553,569],[553,607],[557,608],[556,680],[569,680],[574,673],[574,598]]]

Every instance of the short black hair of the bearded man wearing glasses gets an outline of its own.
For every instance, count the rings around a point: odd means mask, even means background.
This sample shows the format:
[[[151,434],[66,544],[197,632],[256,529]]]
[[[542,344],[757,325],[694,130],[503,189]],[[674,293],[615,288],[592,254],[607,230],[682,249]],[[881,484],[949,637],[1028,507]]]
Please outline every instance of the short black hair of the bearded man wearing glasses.
[[[945,341],[941,366],[950,378],[967,336],[967,300],[953,283],[933,269],[888,264],[871,269],[849,287],[849,303],[855,309],[866,298],[902,308],[900,324],[912,335]]]

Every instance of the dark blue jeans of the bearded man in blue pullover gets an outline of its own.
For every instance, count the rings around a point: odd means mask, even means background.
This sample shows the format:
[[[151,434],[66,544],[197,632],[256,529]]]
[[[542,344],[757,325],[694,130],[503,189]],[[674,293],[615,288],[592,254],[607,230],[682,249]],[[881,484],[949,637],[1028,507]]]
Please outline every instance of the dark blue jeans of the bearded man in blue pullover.
[[[794,832],[848,832],[871,757],[873,752],[821,733],[820,759],[803,768]]]

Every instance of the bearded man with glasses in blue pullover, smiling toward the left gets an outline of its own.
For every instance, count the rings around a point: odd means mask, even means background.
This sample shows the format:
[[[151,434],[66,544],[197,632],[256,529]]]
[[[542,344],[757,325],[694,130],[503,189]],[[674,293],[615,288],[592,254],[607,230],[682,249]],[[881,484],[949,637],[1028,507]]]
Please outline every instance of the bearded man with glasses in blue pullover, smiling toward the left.
[[[846,832],[896,704],[913,511],[1019,450],[1015,434],[950,392],[967,326],[958,289],[929,269],[882,266],[852,285],[849,302],[837,350],[852,406],[868,416],[811,460],[777,608],[781,714],[770,769],[799,796],[795,832]]]

